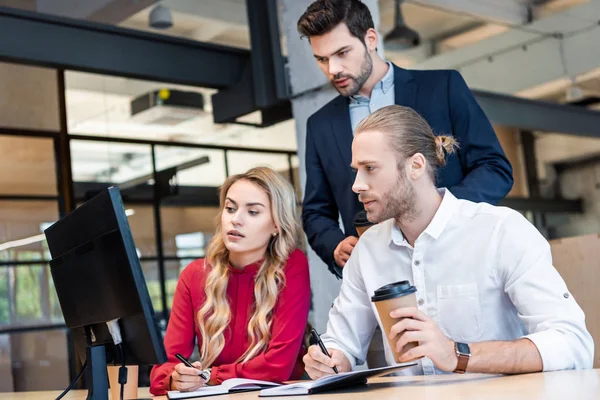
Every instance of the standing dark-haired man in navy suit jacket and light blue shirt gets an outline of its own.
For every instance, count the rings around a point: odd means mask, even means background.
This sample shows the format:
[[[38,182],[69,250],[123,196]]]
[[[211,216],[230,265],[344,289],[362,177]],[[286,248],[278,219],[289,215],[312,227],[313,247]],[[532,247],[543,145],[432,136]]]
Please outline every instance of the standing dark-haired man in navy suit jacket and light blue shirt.
[[[511,165],[457,71],[409,71],[382,60],[371,13],[359,0],[315,1],[300,17],[298,31],[340,93],[308,119],[302,211],[308,241],[332,273],[342,276],[358,241],[353,218],[362,205],[352,192],[353,132],[382,107],[411,107],[436,134],[456,138],[460,149],[439,171],[439,187],[458,198],[490,204],[510,191]]]

